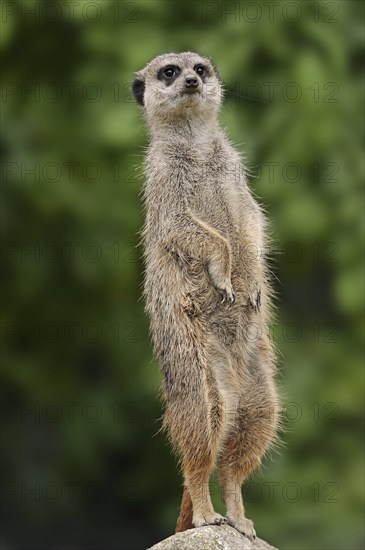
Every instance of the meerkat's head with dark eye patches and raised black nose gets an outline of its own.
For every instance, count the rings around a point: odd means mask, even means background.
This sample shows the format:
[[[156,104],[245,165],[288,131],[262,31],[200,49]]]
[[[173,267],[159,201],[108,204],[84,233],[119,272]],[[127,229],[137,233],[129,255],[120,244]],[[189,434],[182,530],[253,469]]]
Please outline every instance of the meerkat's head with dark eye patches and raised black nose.
[[[193,52],[155,57],[136,74],[132,91],[152,128],[184,119],[212,121],[223,96],[211,61]]]

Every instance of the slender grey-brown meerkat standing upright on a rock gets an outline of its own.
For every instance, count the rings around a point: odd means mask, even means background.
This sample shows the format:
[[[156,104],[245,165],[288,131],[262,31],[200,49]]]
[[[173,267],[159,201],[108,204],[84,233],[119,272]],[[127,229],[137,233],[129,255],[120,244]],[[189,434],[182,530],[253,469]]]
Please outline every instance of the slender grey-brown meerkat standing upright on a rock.
[[[218,121],[212,62],[168,53],[136,73],[150,132],[144,294],[163,373],[164,422],[184,490],[176,531],[228,523],[255,537],[243,481],[277,432],[265,219]],[[226,517],[213,509],[219,468]]]

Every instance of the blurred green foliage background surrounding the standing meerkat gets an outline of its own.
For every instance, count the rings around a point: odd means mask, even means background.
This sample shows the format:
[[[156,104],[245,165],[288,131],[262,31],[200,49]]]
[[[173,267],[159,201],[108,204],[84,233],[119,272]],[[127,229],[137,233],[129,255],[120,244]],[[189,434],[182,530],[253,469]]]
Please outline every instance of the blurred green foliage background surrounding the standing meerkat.
[[[4,1],[4,550],[135,550],[181,476],[143,311],[133,73],[211,57],[268,211],[283,446],[246,485],[281,550],[362,540],[362,2]],[[223,510],[212,482],[215,506]]]

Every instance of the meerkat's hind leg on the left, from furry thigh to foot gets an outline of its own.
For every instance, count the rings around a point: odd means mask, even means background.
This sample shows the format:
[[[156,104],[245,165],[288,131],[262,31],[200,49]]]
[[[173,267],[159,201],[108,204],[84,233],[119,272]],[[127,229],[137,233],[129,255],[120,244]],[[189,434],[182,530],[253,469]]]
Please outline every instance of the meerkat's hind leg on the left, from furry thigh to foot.
[[[226,523],[214,511],[209,492],[224,428],[223,403],[209,358],[193,345],[186,347],[179,369],[172,374],[174,389],[166,400],[165,425],[181,456],[186,487],[177,528],[189,528],[190,507],[194,527]]]

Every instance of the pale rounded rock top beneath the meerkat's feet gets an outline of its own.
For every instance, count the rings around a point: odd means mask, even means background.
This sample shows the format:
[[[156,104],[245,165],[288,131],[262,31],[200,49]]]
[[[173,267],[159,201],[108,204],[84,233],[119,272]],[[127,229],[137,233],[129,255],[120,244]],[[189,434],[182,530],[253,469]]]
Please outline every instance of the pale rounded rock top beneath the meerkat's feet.
[[[207,525],[176,533],[149,550],[277,550],[256,538],[252,541],[229,525]]]

